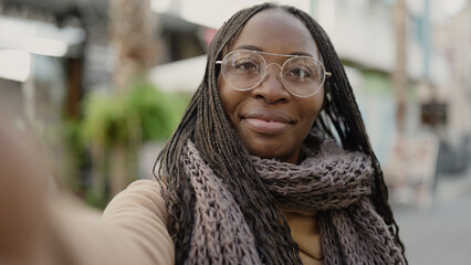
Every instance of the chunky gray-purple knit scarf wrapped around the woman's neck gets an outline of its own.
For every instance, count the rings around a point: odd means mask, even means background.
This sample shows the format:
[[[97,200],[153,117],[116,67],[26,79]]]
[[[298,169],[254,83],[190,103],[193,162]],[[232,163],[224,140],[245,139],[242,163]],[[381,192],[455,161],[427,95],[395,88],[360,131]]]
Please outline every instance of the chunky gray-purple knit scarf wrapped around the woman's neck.
[[[325,264],[405,264],[368,195],[370,159],[326,140],[301,165],[253,159],[281,208],[316,212]],[[196,223],[186,264],[261,264],[254,236],[231,192],[188,141],[181,157],[196,192]]]

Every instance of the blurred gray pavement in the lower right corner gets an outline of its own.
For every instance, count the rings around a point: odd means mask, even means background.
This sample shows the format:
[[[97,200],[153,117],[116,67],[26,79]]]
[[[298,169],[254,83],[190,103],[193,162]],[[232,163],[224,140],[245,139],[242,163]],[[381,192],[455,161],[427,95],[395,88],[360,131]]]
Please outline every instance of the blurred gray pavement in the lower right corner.
[[[430,209],[394,212],[409,264],[471,264],[471,170],[439,178]]]

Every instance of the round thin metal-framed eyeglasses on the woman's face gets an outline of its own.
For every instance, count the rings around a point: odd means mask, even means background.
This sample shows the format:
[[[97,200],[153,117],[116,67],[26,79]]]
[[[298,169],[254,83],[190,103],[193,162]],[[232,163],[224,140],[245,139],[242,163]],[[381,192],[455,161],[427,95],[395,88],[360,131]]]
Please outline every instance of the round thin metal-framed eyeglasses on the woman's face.
[[[282,66],[278,63],[266,64],[262,55],[290,57]],[[331,76],[324,65],[316,59],[304,55],[285,55],[250,50],[236,50],[228,53],[221,64],[222,77],[236,91],[250,91],[265,78],[270,65],[280,67],[280,80],[286,89],[299,97],[316,94]]]

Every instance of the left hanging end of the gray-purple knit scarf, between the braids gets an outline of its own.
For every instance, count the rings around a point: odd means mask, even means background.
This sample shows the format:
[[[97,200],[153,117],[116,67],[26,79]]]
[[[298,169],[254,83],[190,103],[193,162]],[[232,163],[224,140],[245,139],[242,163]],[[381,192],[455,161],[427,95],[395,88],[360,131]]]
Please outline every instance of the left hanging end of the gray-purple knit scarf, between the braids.
[[[253,234],[222,181],[192,142],[184,149],[185,170],[195,188],[196,221],[185,264],[261,264]]]

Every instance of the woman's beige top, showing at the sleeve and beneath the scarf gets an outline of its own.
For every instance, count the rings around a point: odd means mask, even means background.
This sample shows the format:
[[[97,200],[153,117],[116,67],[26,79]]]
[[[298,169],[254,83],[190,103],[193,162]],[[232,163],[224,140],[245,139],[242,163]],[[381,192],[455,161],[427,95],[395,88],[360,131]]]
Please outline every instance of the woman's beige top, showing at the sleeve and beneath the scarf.
[[[167,210],[157,181],[138,180],[117,194],[100,220],[76,208],[53,208],[53,225],[61,241],[55,264],[174,264],[167,232]],[[314,215],[283,211],[303,264],[324,264]]]

